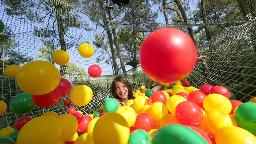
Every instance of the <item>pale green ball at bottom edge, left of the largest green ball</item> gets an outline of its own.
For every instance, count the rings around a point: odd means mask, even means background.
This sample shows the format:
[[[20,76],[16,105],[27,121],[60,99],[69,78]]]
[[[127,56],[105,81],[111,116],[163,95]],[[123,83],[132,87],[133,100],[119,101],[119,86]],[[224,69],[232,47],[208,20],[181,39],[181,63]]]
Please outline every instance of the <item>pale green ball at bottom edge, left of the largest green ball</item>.
[[[150,144],[151,136],[142,129],[136,129],[133,132],[131,132],[128,144]]]

